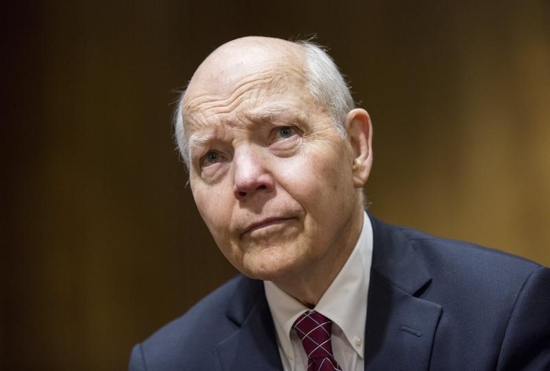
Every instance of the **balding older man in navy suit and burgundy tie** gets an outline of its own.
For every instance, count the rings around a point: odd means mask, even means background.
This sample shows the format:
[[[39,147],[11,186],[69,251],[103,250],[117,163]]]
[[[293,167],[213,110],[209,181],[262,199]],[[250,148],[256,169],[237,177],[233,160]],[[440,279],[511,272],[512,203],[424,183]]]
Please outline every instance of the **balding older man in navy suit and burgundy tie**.
[[[131,370],[550,368],[549,269],[364,212],[371,120],[316,45],[222,45],[176,136],[243,276],[135,346]]]

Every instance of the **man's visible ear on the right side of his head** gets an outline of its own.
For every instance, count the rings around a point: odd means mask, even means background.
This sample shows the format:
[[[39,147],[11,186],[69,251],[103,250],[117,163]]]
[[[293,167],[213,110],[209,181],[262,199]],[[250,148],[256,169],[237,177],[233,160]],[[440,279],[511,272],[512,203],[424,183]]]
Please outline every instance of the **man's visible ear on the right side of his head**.
[[[364,109],[352,109],[346,117],[347,135],[353,151],[353,186],[362,188],[373,166],[373,125]]]

